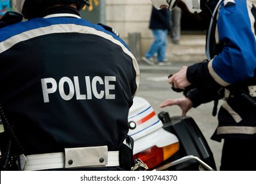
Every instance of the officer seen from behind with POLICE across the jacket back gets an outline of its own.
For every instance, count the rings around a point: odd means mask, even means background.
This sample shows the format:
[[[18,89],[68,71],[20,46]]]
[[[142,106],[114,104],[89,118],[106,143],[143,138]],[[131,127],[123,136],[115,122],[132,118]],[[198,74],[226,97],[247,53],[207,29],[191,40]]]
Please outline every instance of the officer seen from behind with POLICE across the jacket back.
[[[123,170],[134,55],[109,27],[80,18],[88,1],[13,5],[28,21],[0,29],[0,103],[20,170]]]

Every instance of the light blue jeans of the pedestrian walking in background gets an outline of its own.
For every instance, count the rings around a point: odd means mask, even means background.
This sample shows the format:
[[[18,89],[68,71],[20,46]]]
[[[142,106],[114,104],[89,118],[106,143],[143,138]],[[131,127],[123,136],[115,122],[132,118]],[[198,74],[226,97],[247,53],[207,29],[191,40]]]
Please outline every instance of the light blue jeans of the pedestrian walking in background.
[[[145,57],[151,58],[157,53],[157,60],[162,62],[165,60],[168,30],[152,30],[152,32],[155,40],[145,54]]]

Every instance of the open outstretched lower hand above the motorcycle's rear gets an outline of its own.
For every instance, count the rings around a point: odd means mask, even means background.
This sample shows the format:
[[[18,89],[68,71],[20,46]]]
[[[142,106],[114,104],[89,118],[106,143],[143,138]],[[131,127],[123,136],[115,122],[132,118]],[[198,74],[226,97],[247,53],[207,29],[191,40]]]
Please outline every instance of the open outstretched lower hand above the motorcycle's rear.
[[[180,106],[180,108],[182,109],[182,116],[186,116],[188,110],[192,108],[193,103],[189,98],[183,97],[180,99],[168,99],[165,102],[161,103],[160,107],[172,106],[172,105]]]

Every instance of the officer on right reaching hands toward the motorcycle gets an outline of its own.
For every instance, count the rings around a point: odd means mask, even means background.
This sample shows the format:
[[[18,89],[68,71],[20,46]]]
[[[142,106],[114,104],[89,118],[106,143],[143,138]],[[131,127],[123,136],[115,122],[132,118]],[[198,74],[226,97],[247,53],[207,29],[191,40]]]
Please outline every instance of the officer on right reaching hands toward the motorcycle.
[[[159,7],[175,4],[154,1]],[[245,0],[211,0],[202,9],[201,15],[207,16],[201,18],[211,20],[207,59],[184,66],[168,79],[174,90],[185,90],[186,97],[169,99],[161,106],[176,104],[185,116],[190,108],[215,101],[215,115],[218,100],[224,99],[213,135],[216,141],[224,139],[220,170],[256,170],[255,5]]]

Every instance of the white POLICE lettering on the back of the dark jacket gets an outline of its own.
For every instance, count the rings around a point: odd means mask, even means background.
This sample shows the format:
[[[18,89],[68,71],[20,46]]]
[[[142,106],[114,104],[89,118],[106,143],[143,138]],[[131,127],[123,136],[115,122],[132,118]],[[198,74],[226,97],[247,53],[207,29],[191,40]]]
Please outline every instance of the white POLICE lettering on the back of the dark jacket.
[[[50,94],[55,93],[57,90],[59,90],[59,94],[64,101],[70,101],[74,94],[76,94],[76,100],[90,100],[93,97],[96,99],[115,99],[115,94],[113,94],[115,83],[111,84],[111,82],[116,81],[115,76],[105,76],[104,80],[99,76],[93,77],[92,80],[90,80],[90,76],[85,76],[85,86],[80,85],[82,83],[79,83],[78,76],[74,76],[73,79],[74,81],[68,77],[63,77],[59,80],[59,83],[54,78],[41,79],[43,102],[49,103]],[[99,90],[99,86],[104,88],[101,87],[101,90]],[[82,94],[80,89],[86,94]]]

